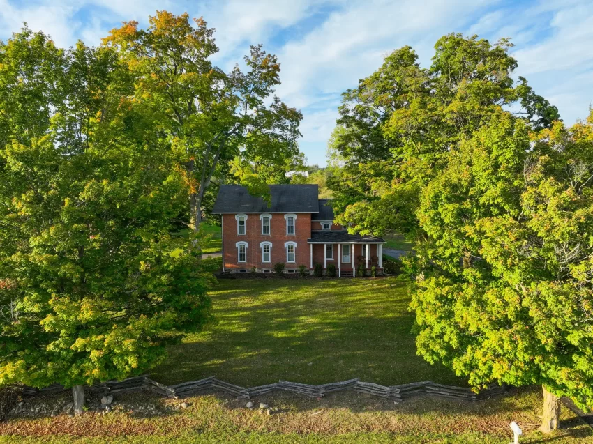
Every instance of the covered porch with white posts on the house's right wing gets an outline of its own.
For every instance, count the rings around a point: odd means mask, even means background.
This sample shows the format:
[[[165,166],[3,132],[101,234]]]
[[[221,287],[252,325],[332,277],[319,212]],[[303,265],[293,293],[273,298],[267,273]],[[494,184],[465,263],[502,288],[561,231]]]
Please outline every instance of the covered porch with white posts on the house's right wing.
[[[347,231],[314,231],[308,239],[310,270],[319,263],[324,273],[333,264],[338,277],[356,277],[360,267],[365,273],[375,267],[380,274],[384,243],[382,238],[348,234]]]

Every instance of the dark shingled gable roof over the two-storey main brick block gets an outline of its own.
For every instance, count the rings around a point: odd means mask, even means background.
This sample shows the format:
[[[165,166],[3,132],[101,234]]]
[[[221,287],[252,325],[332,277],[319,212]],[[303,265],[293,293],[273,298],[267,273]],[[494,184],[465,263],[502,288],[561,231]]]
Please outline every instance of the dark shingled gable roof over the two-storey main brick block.
[[[241,185],[220,185],[212,213],[319,213],[317,185],[269,185],[271,206]]]

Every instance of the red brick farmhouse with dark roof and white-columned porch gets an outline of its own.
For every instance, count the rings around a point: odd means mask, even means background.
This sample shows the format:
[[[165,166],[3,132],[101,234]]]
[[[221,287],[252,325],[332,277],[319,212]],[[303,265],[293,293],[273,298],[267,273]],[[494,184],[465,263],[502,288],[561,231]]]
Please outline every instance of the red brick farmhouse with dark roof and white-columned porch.
[[[382,272],[382,238],[348,233],[333,223],[330,199],[319,199],[317,185],[269,185],[271,204],[241,185],[222,185],[212,213],[222,216],[223,269],[230,273],[286,273],[304,265],[312,272],[329,264],[338,276],[354,276],[362,265]]]

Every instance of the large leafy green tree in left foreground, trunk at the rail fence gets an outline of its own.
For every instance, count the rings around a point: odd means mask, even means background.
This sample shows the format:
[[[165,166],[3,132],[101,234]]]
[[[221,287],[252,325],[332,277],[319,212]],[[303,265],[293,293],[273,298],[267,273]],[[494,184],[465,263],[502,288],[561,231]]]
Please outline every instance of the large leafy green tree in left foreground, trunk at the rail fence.
[[[117,52],[0,45],[0,384],[140,374],[207,318],[211,277],[170,236],[186,205],[160,117]]]

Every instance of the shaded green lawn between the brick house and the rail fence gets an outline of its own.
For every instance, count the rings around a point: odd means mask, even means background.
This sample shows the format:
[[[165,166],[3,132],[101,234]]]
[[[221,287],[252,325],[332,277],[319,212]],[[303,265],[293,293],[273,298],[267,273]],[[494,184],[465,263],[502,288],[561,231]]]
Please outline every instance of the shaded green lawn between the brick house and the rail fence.
[[[156,381],[465,384],[416,355],[404,280],[225,279],[210,294],[215,323],[172,346]]]

